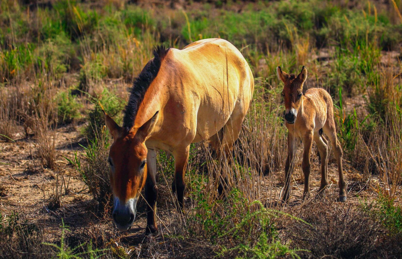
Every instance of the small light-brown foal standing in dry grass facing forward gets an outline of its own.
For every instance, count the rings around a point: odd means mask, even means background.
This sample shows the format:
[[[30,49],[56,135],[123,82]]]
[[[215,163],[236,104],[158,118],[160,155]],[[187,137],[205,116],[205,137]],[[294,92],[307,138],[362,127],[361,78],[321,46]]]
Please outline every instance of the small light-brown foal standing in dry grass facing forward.
[[[309,177],[311,171],[310,152],[313,140],[316,142],[321,157],[321,185],[318,190],[323,193],[328,185],[328,141],[334,149],[339,173],[339,201],[346,201],[346,183],[342,171],[342,148],[336,138],[334,122],[334,105],[332,98],[322,88],[311,88],[303,94],[303,84],[307,78],[307,69],[303,66],[299,75],[287,74],[277,67],[277,76],[284,83],[282,96],[285,100],[285,124],[289,131],[287,136],[288,154],[285,163],[285,186],[281,191],[281,202],[287,202],[290,194],[290,182],[293,172],[293,158],[298,143],[303,143],[304,192],[306,197],[310,190]]]

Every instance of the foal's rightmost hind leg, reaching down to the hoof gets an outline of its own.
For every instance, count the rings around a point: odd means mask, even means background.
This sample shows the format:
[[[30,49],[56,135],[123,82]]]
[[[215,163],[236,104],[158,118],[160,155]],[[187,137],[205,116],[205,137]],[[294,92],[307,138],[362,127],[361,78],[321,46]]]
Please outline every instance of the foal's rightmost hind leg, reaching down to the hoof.
[[[345,179],[343,178],[343,169],[342,169],[343,151],[336,137],[334,118],[333,117],[328,118],[322,129],[324,130],[324,133],[328,136],[329,140],[331,141],[332,149],[334,149],[336,161],[338,163],[339,201],[346,202],[346,183]]]

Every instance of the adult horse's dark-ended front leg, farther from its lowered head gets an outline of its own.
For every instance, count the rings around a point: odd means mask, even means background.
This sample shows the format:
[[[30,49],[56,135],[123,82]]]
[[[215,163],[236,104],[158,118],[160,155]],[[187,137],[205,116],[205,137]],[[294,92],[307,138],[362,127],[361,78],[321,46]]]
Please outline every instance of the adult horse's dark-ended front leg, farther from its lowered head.
[[[189,159],[190,146],[176,149],[173,151],[174,156],[174,179],[172,182],[172,192],[177,198],[177,209],[183,210],[183,199],[186,184],[184,176],[186,173],[187,161]]]

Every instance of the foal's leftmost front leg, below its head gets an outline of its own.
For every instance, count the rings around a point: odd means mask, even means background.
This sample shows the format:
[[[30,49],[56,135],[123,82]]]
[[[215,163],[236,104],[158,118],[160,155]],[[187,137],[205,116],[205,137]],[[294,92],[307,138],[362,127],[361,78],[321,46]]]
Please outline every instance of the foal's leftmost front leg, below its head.
[[[287,157],[285,162],[285,184],[281,191],[281,201],[287,202],[290,195],[290,183],[294,167],[294,155],[299,141],[289,132],[287,135]]]

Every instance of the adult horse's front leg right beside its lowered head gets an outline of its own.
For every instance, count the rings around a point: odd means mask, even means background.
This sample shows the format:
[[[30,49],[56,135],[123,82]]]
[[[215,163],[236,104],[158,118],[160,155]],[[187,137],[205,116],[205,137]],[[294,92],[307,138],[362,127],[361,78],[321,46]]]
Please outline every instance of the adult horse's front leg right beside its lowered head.
[[[147,179],[145,183],[145,199],[147,202],[147,227],[146,234],[155,233],[158,227],[155,222],[156,200],[158,198],[158,186],[156,186],[156,151],[148,149],[147,154]]]

